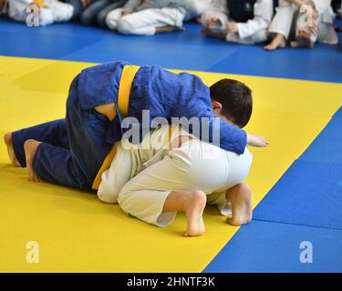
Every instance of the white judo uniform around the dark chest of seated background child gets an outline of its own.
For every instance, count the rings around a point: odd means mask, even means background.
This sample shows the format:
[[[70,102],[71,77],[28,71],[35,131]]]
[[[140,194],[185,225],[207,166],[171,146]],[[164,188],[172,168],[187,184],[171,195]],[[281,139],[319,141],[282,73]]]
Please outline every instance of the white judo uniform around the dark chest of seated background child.
[[[207,19],[217,18],[220,25],[208,27],[214,32],[227,33],[228,42],[241,44],[256,44],[267,40],[268,26],[274,15],[273,0],[258,0],[254,4],[254,18],[246,23],[237,23],[237,33],[227,32],[226,23],[229,19],[229,11],[226,0],[214,0],[209,10],[202,14],[202,25],[206,25]]]

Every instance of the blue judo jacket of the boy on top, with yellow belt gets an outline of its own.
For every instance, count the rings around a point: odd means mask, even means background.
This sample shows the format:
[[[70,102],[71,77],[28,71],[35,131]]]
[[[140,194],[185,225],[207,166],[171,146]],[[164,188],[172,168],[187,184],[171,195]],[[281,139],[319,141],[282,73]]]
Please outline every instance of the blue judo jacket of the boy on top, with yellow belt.
[[[78,92],[80,107],[84,110],[109,103],[118,104],[119,82],[125,62],[115,62],[88,67],[78,75],[70,90]],[[72,86],[77,86],[73,88]],[[150,120],[164,117],[207,117],[209,120],[209,142],[212,142],[213,117],[210,89],[201,78],[187,73],[173,74],[158,65],[143,65],[133,80],[130,90],[129,116],[141,123],[142,110],[150,110]],[[114,144],[125,132],[119,114],[112,121],[107,142]],[[127,130],[127,129],[126,129]],[[200,132],[192,132],[202,138]],[[141,136],[142,138],[142,136]],[[220,147],[224,150],[243,154],[246,146],[246,133],[237,126],[220,119]]]

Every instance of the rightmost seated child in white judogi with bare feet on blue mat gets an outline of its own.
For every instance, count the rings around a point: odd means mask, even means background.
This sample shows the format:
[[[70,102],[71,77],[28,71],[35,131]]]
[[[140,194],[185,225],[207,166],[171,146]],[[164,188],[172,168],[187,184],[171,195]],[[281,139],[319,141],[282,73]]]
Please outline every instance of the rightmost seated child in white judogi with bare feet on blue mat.
[[[269,33],[272,42],[264,46],[266,50],[285,47],[291,33],[295,35],[292,46],[313,47],[316,41],[329,45],[337,44],[337,34],[333,28],[331,0],[280,0]]]

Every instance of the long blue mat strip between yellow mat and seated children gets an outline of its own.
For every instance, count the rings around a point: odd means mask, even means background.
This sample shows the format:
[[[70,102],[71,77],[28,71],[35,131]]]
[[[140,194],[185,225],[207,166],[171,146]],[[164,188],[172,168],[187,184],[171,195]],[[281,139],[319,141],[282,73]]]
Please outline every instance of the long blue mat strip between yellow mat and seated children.
[[[95,63],[126,60],[176,69],[342,83],[342,50],[337,45],[266,52],[262,45],[235,45],[203,37],[201,25],[185,26],[183,33],[129,36],[71,23],[27,27],[2,18],[0,54]]]

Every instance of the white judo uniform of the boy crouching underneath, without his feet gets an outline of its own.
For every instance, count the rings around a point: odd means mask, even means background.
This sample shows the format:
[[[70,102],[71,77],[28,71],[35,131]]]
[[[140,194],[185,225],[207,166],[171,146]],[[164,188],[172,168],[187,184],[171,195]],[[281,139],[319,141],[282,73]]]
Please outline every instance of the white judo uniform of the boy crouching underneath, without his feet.
[[[231,214],[225,191],[248,175],[252,164],[249,150],[240,156],[224,151],[178,130],[178,126],[172,129],[171,141],[180,135],[193,139],[172,149],[168,130],[169,126],[162,126],[146,135],[140,144],[150,143],[146,148],[119,143],[109,170],[102,174],[98,198],[119,203],[126,213],[156,226],[168,226],[176,216],[162,213],[172,191],[202,190],[209,204],[217,205],[223,215]]]

